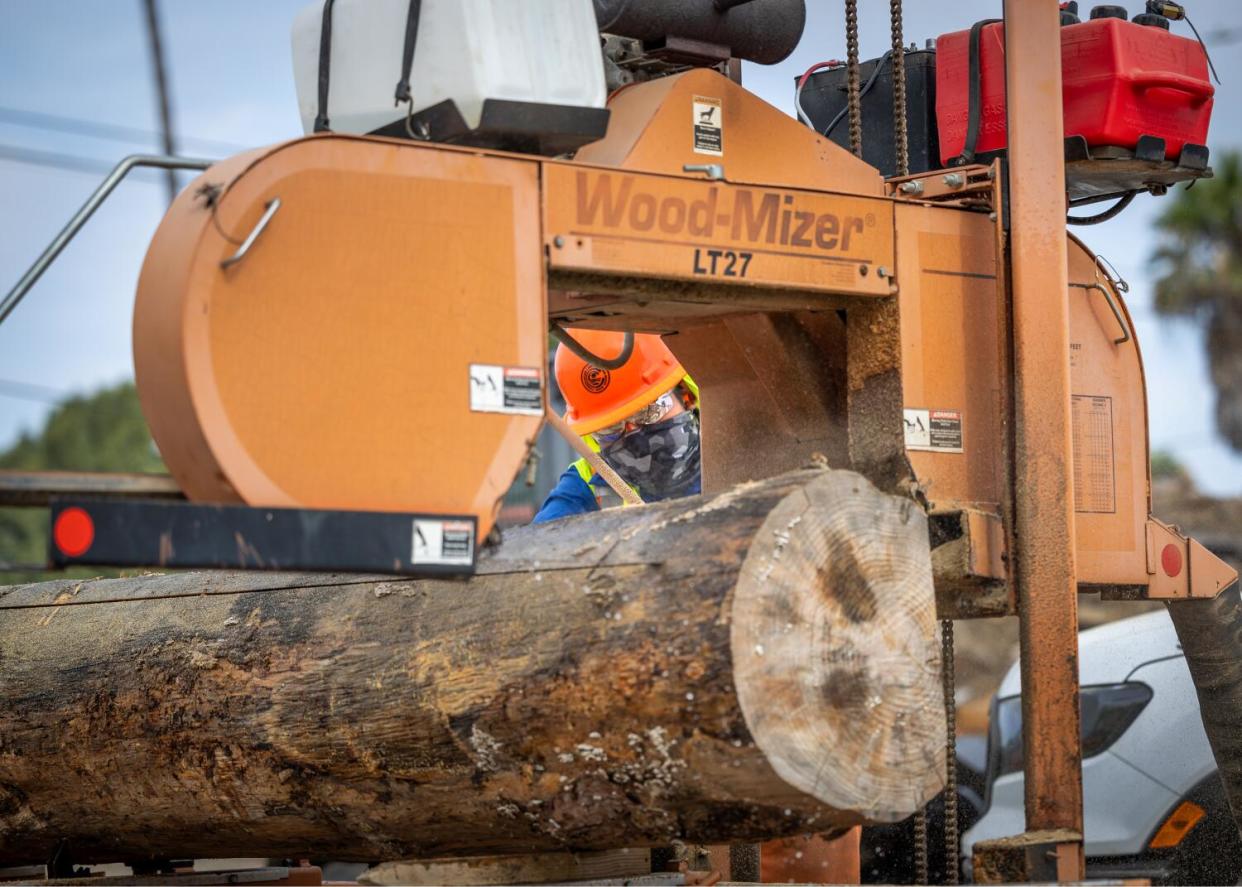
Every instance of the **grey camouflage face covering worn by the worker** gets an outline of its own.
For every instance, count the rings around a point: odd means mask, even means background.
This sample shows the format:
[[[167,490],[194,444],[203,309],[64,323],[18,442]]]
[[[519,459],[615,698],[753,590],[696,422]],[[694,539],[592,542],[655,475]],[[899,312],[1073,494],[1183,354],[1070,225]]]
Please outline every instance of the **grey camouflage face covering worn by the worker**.
[[[655,425],[642,425],[612,441],[600,455],[643,502],[697,492],[699,426],[693,412],[681,412]]]

